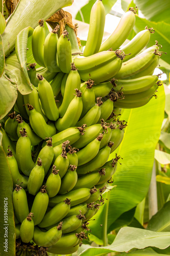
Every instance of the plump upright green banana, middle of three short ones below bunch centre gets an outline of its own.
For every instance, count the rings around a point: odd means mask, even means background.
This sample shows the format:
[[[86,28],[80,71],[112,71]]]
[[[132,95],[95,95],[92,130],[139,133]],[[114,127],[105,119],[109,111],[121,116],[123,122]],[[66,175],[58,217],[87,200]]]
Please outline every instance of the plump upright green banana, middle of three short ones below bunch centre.
[[[58,172],[59,170],[57,170],[56,166],[53,165],[53,171],[46,180],[46,191],[48,193],[48,197],[50,198],[55,197],[61,187],[61,178]]]

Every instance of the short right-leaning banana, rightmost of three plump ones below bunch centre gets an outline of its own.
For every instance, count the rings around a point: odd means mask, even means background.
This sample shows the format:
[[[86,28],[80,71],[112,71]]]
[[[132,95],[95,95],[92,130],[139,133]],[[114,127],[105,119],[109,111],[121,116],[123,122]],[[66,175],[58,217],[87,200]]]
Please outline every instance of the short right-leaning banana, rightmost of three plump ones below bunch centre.
[[[76,169],[77,169],[76,165],[71,165],[71,164],[69,165],[69,169],[67,170],[66,174],[62,178],[59,195],[64,195],[75,187],[78,180]]]

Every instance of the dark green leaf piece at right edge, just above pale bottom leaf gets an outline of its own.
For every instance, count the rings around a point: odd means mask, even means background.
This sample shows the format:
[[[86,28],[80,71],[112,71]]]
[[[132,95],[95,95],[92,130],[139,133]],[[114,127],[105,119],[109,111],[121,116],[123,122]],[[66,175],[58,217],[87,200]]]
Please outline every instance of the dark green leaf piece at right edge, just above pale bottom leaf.
[[[170,201],[151,218],[147,229],[157,232],[170,231]]]

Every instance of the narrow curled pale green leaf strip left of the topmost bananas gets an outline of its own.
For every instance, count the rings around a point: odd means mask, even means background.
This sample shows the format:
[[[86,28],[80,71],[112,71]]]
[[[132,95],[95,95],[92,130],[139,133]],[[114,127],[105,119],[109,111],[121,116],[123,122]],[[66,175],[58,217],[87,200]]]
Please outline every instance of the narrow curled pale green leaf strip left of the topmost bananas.
[[[15,51],[18,61],[20,63],[23,75],[26,78],[27,83],[31,86],[30,78],[27,72],[27,44],[28,37],[33,34],[34,29],[27,27],[22,29],[16,37]]]

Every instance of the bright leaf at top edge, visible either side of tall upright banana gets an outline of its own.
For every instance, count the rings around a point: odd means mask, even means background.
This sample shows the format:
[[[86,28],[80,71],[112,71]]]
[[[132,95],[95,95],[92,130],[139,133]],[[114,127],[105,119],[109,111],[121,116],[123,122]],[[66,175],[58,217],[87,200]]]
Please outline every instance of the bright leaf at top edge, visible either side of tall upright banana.
[[[78,11],[76,19],[81,20],[81,22],[90,23],[90,11],[96,0],[89,0],[89,2]],[[103,5],[105,7],[106,14],[108,14],[112,6],[116,3],[116,0],[103,0]]]

